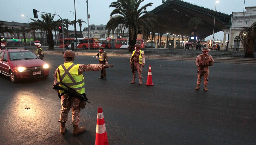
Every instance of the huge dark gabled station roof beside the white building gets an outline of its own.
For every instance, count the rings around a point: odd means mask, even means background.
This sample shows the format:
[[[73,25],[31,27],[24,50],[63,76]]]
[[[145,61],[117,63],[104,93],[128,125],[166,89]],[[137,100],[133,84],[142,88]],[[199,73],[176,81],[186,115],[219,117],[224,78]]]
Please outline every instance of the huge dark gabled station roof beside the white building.
[[[199,5],[187,3],[182,0],[166,0],[149,13],[158,16],[159,26],[155,30],[159,33],[170,33],[176,35],[190,36],[193,26],[189,26],[188,22],[193,17],[199,17],[203,20],[203,24],[197,26],[197,37],[199,39],[206,38],[213,33],[220,32],[230,28],[231,15],[207,9]]]

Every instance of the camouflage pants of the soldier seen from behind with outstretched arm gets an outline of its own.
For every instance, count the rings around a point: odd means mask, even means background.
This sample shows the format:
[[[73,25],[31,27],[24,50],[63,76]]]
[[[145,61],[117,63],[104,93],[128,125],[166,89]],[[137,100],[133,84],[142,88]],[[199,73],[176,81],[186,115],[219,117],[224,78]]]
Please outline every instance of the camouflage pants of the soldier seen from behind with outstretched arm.
[[[73,125],[78,125],[80,123],[80,113],[81,109],[79,107],[80,99],[76,97],[72,97],[70,101],[68,101],[69,95],[65,94],[61,96],[61,115],[59,117],[59,122],[67,122],[69,110],[72,110],[72,122]]]

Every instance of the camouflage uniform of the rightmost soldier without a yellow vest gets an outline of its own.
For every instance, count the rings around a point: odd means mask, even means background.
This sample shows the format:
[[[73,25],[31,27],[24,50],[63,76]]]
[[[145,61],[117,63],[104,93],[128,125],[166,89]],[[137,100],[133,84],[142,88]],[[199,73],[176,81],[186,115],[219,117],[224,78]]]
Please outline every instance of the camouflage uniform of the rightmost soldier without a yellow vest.
[[[208,55],[208,59],[211,59],[212,62],[214,62],[213,58],[211,55]],[[196,65],[197,65],[197,68],[198,68],[198,71],[197,71],[197,84],[200,84],[201,83],[201,79],[202,79],[202,76],[204,76],[204,84],[207,85],[208,84],[208,76],[209,76],[209,67],[208,66],[202,66],[202,58],[204,58],[205,55],[200,54],[197,56],[197,59],[195,61]]]

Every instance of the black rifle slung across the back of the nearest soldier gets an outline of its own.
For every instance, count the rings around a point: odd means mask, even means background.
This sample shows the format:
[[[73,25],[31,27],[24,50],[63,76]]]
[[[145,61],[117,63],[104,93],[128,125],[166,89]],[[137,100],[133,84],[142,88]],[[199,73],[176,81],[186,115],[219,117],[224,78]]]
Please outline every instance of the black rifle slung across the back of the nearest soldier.
[[[60,83],[63,84],[66,88],[63,88],[63,87],[59,86]],[[86,101],[86,102],[90,103],[90,102],[88,101],[88,98],[86,97],[86,94],[85,94],[85,93],[79,94],[77,91],[75,91],[74,89],[70,88],[69,86],[67,86],[67,85],[64,84],[63,82],[58,82],[58,83],[56,83],[56,84],[53,86],[53,89],[64,91],[63,93],[58,94],[58,95],[59,95],[59,98],[60,98],[62,95],[64,95],[64,94],[69,94],[70,97],[68,98],[68,100],[70,100],[72,97],[77,97],[77,98],[79,98],[79,99],[82,100],[82,101]]]

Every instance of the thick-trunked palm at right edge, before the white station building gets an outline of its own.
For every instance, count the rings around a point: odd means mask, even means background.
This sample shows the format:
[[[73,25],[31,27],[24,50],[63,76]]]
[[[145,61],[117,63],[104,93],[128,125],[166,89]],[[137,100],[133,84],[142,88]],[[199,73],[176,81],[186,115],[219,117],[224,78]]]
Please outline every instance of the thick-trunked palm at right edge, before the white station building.
[[[254,58],[253,56],[253,47],[256,45],[256,24],[244,28],[239,37],[243,44],[243,50],[246,58]]]

